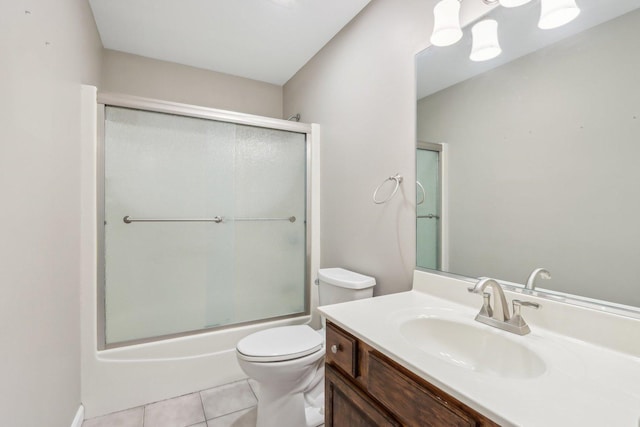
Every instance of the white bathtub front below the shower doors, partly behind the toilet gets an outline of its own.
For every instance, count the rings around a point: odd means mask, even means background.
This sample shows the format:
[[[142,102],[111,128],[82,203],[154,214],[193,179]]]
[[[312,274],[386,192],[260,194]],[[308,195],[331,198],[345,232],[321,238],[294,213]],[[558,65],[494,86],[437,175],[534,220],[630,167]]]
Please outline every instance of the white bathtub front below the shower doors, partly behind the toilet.
[[[92,418],[246,378],[235,345],[273,326],[308,323],[310,316],[84,354],[82,404]],[[95,341],[94,341],[95,342]]]

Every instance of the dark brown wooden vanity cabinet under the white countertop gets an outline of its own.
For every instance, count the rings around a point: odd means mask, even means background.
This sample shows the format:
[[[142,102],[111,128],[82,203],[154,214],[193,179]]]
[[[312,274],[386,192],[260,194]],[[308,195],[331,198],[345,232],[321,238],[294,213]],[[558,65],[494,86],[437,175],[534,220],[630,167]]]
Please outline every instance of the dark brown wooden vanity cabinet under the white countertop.
[[[327,322],[325,425],[498,426]]]

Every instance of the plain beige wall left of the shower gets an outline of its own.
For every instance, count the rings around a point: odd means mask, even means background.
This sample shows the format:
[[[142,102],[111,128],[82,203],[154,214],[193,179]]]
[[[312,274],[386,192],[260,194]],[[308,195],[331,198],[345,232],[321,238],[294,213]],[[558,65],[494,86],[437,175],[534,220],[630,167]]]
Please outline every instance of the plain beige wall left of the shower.
[[[0,17],[0,424],[68,427],[80,405],[80,83],[99,80],[102,46],[85,0],[2,1]]]

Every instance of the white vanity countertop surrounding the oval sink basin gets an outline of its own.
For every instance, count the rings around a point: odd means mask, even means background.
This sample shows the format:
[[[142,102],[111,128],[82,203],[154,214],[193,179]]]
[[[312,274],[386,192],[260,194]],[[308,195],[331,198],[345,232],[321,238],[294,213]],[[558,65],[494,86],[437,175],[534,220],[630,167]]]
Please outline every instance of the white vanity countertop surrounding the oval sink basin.
[[[430,279],[425,276],[424,280]],[[457,366],[450,360],[424,352],[398,332],[402,319],[424,309],[448,310],[464,322],[474,322],[482,298],[473,295],[470,299],[466,285],[468,283],[445,292],[448,297],[459,291],[460,301],[436,296],[438,292],[425,292],[428,286],[416,286],[414,280],[414,290],[409,292],[324,306],[319,311],[328,320],[502,425],[640,426],[638,354],[626,351],[626,347],[623,348],[625,351],[620,351],[596,344],[606,342],[611,335],[622,334],[621,342],[635,340],[631,343],[632,348],[638,348],[640,321],[621,319],[621,327],[598,331],[609,334],[609,337],[596,336],[589,342],[540,326],[560,322],[566,329],[567,322],[583,322],[585,316],[589,318],[588,313],[581,312],[580,317],[572,319],[566,314],[572,309],[562,310],[561,304],[558,307],[543,300],[540,302],[542,309],[535,315],[523,309],[523,317],[531,326],[528,335],[518,336],[475,322],[478,327],[505,334],[534,351],[544,361],[545,370],[533,378],[503,377]],[[476,307],[471,307],[469,301],[473,301]],[[553,306],[546,307],[546,313],[545,304]],[[598,316],[599,313],[593,313],[593,324],[598,324]],[[616,325],[616,319],[606,320],[604,323]],[[581,332],[585,328],[588,330],[588,325],[578,326],[578,329],[582,328]]]

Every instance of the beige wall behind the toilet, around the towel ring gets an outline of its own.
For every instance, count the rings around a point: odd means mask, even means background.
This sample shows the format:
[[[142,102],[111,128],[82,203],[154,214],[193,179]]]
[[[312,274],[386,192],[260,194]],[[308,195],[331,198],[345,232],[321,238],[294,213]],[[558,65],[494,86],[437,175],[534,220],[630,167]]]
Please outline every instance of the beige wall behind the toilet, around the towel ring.
[[[373,0],[284,86],[284,113],[322,126],[322,266],[373,275],[376,294],[407,290],[415,265],[414,54],[431,4]],[[401,190],[372,193],[399,172]]]

